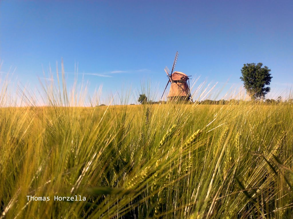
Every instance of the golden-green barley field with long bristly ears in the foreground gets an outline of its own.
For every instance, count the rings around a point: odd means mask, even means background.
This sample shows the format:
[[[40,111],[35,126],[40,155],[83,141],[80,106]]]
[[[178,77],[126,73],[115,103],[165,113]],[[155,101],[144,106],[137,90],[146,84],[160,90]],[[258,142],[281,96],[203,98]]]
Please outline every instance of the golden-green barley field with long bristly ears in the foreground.
[[[47,98],[0,108],[0,218],[293,217],[291,104]]]

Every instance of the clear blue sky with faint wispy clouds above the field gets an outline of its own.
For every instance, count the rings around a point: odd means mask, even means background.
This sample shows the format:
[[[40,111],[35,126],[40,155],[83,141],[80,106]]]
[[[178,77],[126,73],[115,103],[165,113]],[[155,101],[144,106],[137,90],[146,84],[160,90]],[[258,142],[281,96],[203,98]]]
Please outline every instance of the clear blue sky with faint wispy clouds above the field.
[[[278,95],[293,84],[292,11],[293,1],[0,1],[1,72],[17,67],[37,86],[42,66],[48,74],[63,57],[69,86],[78,63],[90,93],[147,80],[161,93],[178,51],[177,71],[219,88],[229,80],[221,95],[242,85],[244,63],[263,62]]]

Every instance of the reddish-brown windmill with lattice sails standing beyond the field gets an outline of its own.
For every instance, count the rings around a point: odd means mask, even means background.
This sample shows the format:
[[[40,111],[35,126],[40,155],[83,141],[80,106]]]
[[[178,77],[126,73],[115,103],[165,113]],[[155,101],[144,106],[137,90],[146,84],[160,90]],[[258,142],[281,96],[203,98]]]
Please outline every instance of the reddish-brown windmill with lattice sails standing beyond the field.
[[[165,72],[168,77],[168,83],[165,87],[163,95],[167,89],[169,82],[171,82],[170,91],[168,94],[168,100],[184,100],[184,101],[192,101],[191,94],[190,94],[190,86],[189,86],[189,77],[183,72],[173,72],[175,69],[175,65],[178,59],[178,52],[176,52],[175,59],[173,62],[171,74],[168,67],[165,67]],[[188,84],[187,84],[188,81]],[[163,95],[161,99],[163,98]]]

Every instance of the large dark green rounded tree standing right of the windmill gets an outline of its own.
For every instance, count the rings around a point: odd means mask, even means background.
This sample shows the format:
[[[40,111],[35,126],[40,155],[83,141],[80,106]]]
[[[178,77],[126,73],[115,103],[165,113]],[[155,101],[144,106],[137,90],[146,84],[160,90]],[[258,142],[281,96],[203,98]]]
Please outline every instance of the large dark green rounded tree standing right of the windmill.
[[[247,63],[244,64],[240,77],[241,81],[244,83],[244,88],[246,89],[248,95],[250,95],[252,100],[265,98],[265,95],[270,92],[270,85],[272,76],[270,74],[271,69],[267,66],[262,67],[263,63]]]

